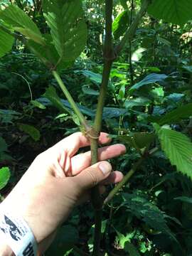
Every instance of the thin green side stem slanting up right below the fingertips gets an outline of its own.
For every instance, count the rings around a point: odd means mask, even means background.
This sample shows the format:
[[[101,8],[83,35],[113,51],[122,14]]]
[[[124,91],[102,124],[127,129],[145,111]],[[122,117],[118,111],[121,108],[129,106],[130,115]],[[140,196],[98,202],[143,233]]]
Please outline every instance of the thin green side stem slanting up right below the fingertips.
[[[107,198],[105,198],[104,204],[109,203],[110,200],[112,200],[112,198],[114,197],[114,195],[119,191],[119,189],[122,188],[122,186],[124,186],[125,183],[127,183],[127,181],[129,181],[129,178],[131,178],[133,176],[133,174],[135,173],[135,171],[137,171],[137,169],[139,168],[139,166],[141,166],[141,164],[144,161],[144,157],[141,157],[139,159],[139,161],[137,161],[134,166],[132,167],[132,169],[124,176],[124,178],[122,179],[121,182],[119,182],[113,189],[112,191],[110,191],[109,195],[107,196]]]

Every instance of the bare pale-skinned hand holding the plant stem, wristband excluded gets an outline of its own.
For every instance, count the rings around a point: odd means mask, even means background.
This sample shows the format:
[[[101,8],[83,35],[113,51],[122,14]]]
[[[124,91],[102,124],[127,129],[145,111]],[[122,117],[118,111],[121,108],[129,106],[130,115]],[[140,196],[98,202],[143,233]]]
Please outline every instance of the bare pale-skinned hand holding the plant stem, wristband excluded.
[[[102,132],[100,144],[110,138]],[[45,252],[56,230],[65,222],[75,206],[90,198],[90,188],[122,180],[122,173],[112,171],[107,159],[124,154],[125,146],[115,144],[98,150],[99,161],[90,166],[90,151],[76,154],[90,142],[81,132],[66,137],[36,157],[26,173],[2,205],[11,213],[22,216],[38,242],[38,252]],[[14,255],[6,242],[1,242],[0,255]]]

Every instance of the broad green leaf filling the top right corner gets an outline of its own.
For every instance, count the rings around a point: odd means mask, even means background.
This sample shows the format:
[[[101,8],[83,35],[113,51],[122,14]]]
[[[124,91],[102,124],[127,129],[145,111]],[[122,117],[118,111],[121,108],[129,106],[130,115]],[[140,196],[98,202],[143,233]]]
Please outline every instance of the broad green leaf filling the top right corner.
[[[192,0],[154,0],[148,13],[155,18],[183,25],[192,18]]]

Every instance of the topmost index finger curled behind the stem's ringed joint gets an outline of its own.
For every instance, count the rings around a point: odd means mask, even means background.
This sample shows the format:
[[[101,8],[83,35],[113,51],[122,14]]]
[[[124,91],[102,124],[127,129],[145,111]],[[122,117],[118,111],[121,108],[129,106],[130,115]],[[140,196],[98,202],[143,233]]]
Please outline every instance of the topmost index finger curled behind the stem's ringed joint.
[[[111,141],[111,139],[107,136],[108,134],[105,132],[100,133],[100,138],[99,138],[100,144],[107,144]],[[83,146],[89,146],[89,145],[90,145],[89,139],[85,137],[85,135],[83,135],[82,132],[75,132],[74,134],[71,134],[65,139],[62,139],[53,147],[63,151],[65,150],[66,152],[68,152],[68,156],[73,156],[78,151],[78,149],[80,149]]]

